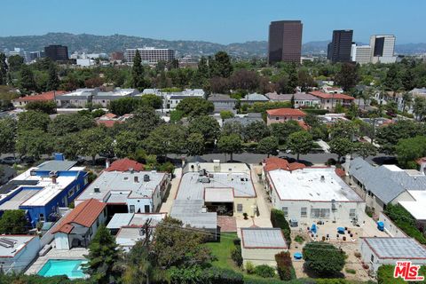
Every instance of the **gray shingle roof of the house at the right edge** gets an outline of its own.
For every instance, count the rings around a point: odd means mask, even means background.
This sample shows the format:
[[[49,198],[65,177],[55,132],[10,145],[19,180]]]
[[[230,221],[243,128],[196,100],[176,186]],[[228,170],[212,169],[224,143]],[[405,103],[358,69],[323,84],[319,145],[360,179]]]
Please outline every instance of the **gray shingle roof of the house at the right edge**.
[[[404,170],[390,170],[387,166],[374,167],[362,158],[350,162],[349,174],[385,204],[406,190],[425,190],[425,176],[410,176]]]

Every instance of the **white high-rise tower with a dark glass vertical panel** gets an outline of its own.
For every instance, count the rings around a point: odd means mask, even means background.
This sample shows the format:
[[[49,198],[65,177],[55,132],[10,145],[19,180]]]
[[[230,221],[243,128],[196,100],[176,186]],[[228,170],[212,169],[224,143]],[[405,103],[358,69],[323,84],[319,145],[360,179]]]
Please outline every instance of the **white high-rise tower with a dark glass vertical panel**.
[[[370,36],[371,62],[394,63],[395,36]]]

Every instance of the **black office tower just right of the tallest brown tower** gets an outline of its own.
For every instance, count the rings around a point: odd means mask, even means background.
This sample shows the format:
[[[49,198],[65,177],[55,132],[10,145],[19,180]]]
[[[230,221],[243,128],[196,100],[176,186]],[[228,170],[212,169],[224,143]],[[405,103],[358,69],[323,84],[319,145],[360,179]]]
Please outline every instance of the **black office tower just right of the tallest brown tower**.
[[[351,62],[352,36],[351,29],[333,31],[333,40],[327,52],[331,62]]]

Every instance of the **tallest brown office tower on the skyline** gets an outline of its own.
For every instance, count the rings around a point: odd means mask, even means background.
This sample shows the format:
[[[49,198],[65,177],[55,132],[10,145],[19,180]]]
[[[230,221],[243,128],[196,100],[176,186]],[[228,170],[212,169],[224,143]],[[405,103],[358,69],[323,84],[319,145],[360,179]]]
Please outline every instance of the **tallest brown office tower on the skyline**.
[[[278,20],[269,25],[268,62],[300,63],[302,30],[300,20]]]

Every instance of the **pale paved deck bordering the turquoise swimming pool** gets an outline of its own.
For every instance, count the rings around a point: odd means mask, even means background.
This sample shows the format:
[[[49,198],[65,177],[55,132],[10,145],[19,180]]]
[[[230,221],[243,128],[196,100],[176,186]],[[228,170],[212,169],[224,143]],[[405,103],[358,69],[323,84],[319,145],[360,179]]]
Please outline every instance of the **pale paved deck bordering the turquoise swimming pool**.
[[[69,250],[51,248],[45,256],[38,256],[25,274],[36,274],[49,259],[85,259],[84,256],[88,254],[87,248],[71,248]]]

